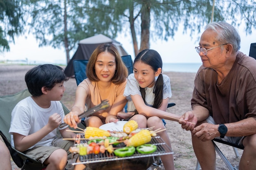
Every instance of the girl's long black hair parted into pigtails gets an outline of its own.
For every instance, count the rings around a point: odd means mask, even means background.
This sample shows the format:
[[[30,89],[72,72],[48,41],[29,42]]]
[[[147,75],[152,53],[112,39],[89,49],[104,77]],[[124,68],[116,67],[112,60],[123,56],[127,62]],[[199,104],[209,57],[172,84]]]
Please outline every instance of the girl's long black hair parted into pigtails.
[[[141,51],[135,57],[134,64],[135,64],[135,62],[138,62],[138,61],[151,66],[151,68],[154,71],[157,71],[158,68],[162,69],[162,66],[163,66],[162,58],[159,55],[159,53],[157,53],[157,51],[155,51],[155,50],[145,49],[145,50]],[[161,106],[162,101],[163,101],[163,88],[164,88],[163,75],[159,74],[157,81],[155,82],[154,89],[153,89],[153,93],[155,94],[154,104],[152,106],[153,108],[159,108]],[[141,96],[145,102],[145,96],[146,96],[145,88],[139,87],[139,90],[140,90]],[[137,114],[137,113],[138,113],[137,110],[135,110],[135,114]]]

